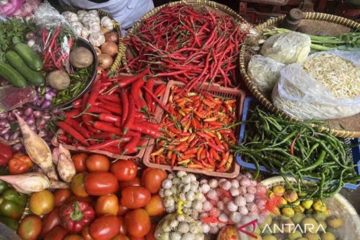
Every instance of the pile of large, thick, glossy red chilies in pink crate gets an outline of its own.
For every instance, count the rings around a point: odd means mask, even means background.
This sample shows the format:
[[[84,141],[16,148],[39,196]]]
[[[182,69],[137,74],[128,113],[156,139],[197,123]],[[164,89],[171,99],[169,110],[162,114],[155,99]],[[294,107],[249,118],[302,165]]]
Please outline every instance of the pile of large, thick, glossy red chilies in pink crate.
[[[64,121],[57,123],[66,133],[58,141],[129,155],[146,145],[149,137],[161,137],[160,125],[152,120],[166,87],[148,75],[148,68],[114,78],[102,72],[90,92],[73,102]]]

